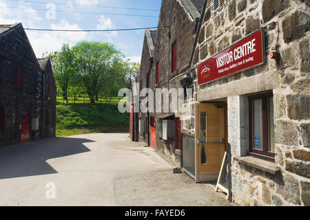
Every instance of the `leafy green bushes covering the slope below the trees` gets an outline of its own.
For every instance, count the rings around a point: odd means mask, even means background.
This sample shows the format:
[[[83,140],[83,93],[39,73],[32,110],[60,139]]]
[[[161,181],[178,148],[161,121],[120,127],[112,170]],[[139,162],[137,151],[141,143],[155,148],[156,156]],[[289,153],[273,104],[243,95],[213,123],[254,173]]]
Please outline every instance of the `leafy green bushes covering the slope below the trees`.
[[[129,113],[118,112],[116,105],[56,106],[56,128],[129,126]]]

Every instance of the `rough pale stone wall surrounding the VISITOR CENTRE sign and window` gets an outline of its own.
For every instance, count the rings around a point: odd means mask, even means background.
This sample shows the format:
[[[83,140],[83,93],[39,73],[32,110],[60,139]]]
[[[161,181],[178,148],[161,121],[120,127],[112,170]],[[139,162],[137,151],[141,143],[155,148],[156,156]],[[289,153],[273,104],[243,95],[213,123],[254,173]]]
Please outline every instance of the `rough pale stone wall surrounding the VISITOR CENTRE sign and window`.
[[[261,66],[202,86],[194,74],[196,102],[227,99],[233,201],[245,206],[310,206],[309,1],[223,0],[218,11],[212,7],[208,1],[194,67],[259,28],[265,38],[266,61]],[[276,43],[278,65],[269,58]],[[268,90],[274,101],[273,165],[280,168],[276,174],[235,160],[249,152],[247,95]]]

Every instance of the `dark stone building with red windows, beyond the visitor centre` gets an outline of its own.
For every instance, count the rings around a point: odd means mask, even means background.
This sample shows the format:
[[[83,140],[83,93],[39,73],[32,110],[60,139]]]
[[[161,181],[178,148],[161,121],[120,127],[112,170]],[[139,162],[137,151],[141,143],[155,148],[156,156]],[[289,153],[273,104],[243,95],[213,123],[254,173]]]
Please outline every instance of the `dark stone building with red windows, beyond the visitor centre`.
[[[157,32],[146,30],[139,83],[142,88],[183,88],[180,76],[189,70],[203,0],[163,0]],[[156,37],[154,34],[156,33]],[[152,45],[154,43],[154,45]],[[143,97],[140,99],[143,100]],[[161,100],[163,103],[164,97]],[[171,100],[171,97],[169,97]],[[158,105],[159,103],[157,103]],[[163,106],[163,105],[161,105]],[[156,103],[154,103],[154,111]],[[148,143],[163,158],[180,167],[180,119],[175,112],[140,113],[139,141]],[[163,137],[163,123],[167,137]],[[140,127],[141,127],[140,126]],[[194,117],[190,126],[194,126]],[[150,134],[150,135],[148,135]],[[165,136],[165,135],[164,135]]]

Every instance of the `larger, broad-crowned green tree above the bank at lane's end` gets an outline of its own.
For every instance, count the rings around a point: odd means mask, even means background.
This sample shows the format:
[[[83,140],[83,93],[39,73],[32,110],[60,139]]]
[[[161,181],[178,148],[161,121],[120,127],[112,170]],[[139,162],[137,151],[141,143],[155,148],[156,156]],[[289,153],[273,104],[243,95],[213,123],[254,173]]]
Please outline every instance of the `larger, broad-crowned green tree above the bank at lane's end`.
[[[91,103],[103,88],[124,77],[123,54],[111,43],[81,41],[72,50],[79,81]]]

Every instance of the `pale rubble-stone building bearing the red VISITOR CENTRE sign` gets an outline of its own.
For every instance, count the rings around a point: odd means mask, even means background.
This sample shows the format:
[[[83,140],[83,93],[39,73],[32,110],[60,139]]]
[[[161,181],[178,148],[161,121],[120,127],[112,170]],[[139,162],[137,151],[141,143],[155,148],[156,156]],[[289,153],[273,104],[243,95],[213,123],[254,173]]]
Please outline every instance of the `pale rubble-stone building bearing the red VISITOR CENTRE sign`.
[[[217,7],[215,2],[206,1],[194,45],[196,138],[214,123],[206,119],[208,108],[222,104],[220,137],[227,141],[218,147],[231,148],[232,200],[309,206],[309,1],[223,0]],[[247,52],[240,54],[243,45]],[[215,59],[223,67],[214,68]],[[233,66],[242,59],[240,68]],[[201,127],[203,120],[207,126]],[[196,151],[201,147],[207,157],[223,154],[212,153],[211,144],[196,144]],[[197,166],[199,176],[202,165]]]

